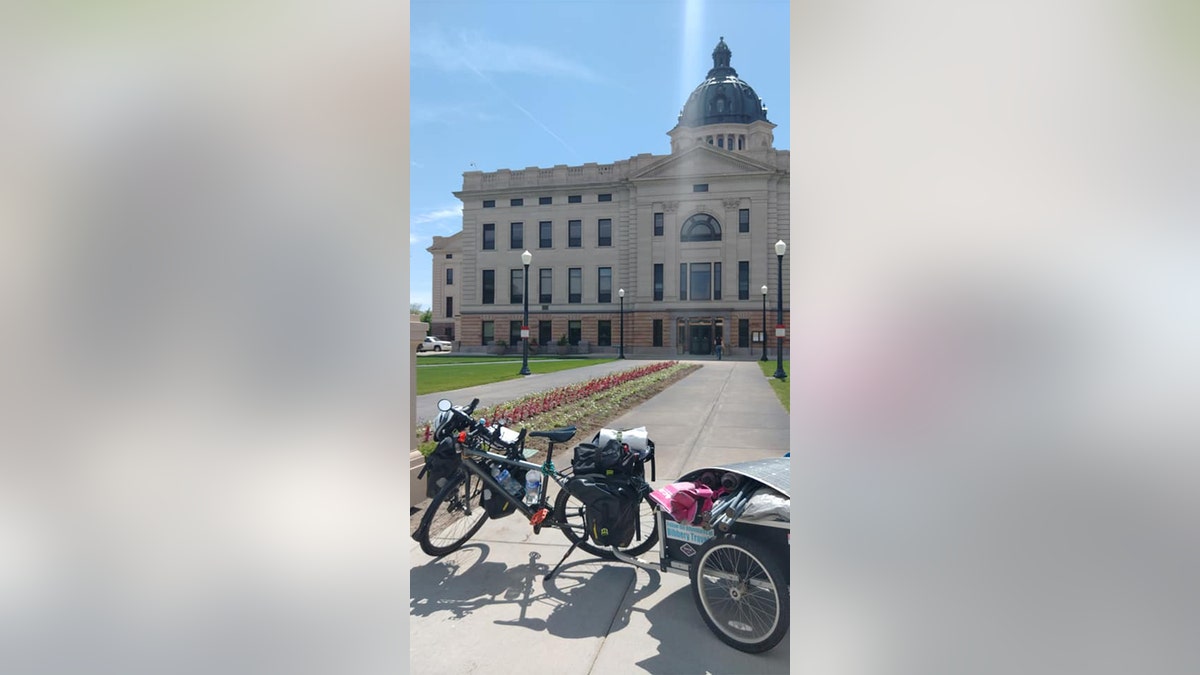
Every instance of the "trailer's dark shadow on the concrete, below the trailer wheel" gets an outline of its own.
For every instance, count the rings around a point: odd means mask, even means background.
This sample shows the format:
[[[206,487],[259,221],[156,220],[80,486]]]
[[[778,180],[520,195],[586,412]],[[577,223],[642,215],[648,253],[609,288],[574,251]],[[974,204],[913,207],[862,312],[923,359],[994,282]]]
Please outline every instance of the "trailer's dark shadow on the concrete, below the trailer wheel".
[[[766,653],[745,653],[716,638],[700,617],[691,586],[662,598],[646,611],[648,634],[659,640],[659,653],[637,662],[647,673],[786,674],[788,639]]]

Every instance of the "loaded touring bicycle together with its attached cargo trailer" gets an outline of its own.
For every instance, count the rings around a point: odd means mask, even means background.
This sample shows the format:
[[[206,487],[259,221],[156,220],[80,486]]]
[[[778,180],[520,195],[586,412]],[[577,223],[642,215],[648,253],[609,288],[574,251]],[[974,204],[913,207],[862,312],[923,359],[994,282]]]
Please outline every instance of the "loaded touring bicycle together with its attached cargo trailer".
[[[413,538],[431,556],[460,549],[488,519],[521,513],[534,532],[557,527],[576,548],[646,569],[688,574],[704,623],[734,649],[762,652],[786,635],[788,614],[788,460],[773,458],[691,471],[652,490],[654,443],[644,430],[602,430],[576,446],[570,466],[554,465],[554,446],[574,426],[516,432],[472,417],[467,406],[440,411],[421,477],[430,506]],[[548,442],[545,461],[529,461],[527,437]],[[558,485],[551,504],[548,484]],[[658,549],[659,560],[642,555]]]

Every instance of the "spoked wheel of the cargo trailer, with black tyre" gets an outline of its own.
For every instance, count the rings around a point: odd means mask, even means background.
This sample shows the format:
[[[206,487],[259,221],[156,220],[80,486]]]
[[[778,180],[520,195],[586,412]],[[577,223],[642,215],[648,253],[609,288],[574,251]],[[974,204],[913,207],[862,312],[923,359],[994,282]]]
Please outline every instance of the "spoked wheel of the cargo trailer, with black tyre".
[[[766,545],[742,534],[709,539],[696,552],[690,575],[696,609],[721,641],[758,653],[784,639],[787,575]]]

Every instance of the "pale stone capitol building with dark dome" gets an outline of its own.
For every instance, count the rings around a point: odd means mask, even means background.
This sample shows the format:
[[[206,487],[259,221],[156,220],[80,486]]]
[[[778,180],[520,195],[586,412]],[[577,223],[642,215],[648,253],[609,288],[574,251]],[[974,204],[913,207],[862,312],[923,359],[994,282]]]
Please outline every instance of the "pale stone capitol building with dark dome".
[[[671,153],[607,165],[467,172],[462,231],[434,237],[432,334],[463,352],[518,346],[524,251],[529,329],[616,353],[775,357],[775,243],[790,237],[787,150],[721,38],[667,135]],[[787,92],[776,92],[786,96]],[[784,256],[788,279],[791,251]],[[763,293],[767,323],[763,325]],[[784,323],[788,288],[784,286]],[[785,339],[786,348],[786,339]]]

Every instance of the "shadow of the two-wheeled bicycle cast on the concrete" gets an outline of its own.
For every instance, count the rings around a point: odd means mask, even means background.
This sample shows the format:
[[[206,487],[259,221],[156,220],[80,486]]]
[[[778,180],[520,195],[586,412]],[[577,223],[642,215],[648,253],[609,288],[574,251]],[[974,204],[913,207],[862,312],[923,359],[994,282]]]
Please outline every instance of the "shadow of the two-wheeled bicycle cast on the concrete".
[[[566,639],[596,638],[629,625],[630,590],[636,602],[660,586],[656,572],[646,572],[648,583],[640,586],[636,568],[599,558],[564,565],[545,581],[550,566],[539,562],[536,551],[529,552],[529,562],[511,567],[488,562],[490,552],[487,544],[472,543],[413,567],[409,613],[422,617],[448,613],[451,620],[464,620],[482,608],[510,604],[515,616],[492,623]]]

